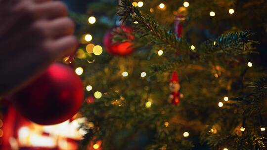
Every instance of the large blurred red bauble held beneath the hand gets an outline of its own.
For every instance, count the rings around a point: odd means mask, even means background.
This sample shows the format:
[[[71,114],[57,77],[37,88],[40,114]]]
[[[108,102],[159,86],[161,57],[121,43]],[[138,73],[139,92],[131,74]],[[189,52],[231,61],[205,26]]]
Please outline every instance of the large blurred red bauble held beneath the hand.
[[[79,111],[83,99],[83,83],[79,76],[72,68],[57,63],[13,98],[18,112],[42,125],[70,119]]]

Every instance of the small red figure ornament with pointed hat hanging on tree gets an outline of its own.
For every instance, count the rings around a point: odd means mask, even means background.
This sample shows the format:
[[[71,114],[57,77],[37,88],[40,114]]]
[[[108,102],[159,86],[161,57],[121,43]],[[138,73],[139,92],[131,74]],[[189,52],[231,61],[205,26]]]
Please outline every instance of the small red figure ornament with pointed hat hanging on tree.
[[[170,80],[170,90],[172,94],[169,96],[169,102],[174,105],[180,104],[180,99],[183,98],[183,94],[179,92],[180,84],[177,73],[174,71]]]

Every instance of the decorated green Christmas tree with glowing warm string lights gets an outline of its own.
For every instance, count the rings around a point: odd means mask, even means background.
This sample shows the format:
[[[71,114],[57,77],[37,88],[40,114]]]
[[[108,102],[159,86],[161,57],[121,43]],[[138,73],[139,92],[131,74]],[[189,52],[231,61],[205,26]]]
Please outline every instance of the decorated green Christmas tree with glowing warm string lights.
[[[65,0],[80,150],[266,150],[266,0]]]

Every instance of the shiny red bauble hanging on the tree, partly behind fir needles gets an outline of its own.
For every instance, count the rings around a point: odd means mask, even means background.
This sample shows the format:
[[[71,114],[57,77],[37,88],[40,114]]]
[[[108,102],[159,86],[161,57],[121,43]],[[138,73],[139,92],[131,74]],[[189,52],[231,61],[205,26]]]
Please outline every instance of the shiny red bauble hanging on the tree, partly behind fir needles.
[[[125,26],[119,26],[115,28],[116,32],[126,32],[127,34],[133,32],[133,29],[130,27]],[[108,31],[106,35],[104,36],[104,46],[108,53],[112,55],[119,55],[119,56],[127,56],[133,53],[133,43],[131,42],[118,42],[118,43],[112,43],[112,31]],[[128,36],[128,39],[133,40],[133,36]]]

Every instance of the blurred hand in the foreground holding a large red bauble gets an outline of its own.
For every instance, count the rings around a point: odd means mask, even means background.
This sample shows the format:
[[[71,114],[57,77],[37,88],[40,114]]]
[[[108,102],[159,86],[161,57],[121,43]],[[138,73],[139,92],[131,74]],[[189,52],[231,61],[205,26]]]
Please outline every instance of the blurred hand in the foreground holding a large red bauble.
[[[16,91],[78,47],[64,3],[0,0],[0,95]]]

